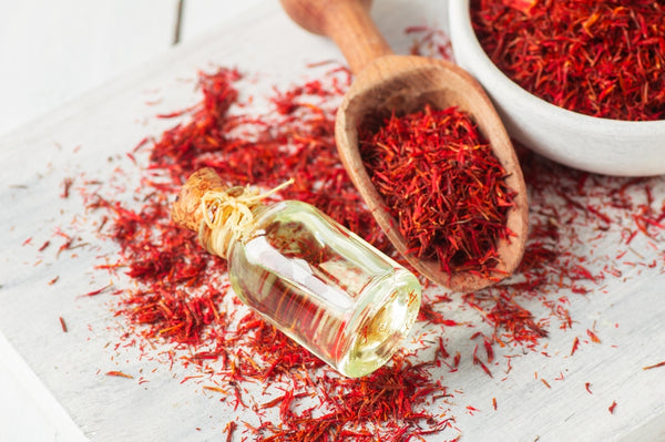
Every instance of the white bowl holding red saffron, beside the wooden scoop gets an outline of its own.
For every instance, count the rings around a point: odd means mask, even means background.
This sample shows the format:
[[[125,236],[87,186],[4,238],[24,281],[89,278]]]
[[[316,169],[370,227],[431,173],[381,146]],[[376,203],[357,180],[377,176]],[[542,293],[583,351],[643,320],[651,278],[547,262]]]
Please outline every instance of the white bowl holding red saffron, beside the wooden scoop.
[[[665,174],[665,120],[598,119],[548,103],[492,63],[471,27],[469,0],[449,0],[449,20],[457,63],[484,86],[514,140],[548,158],[587,172]]]

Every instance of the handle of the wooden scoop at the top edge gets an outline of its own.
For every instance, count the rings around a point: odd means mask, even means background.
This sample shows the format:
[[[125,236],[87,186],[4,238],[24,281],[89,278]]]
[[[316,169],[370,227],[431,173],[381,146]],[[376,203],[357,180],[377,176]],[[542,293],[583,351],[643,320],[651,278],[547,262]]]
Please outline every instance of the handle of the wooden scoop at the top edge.
[[[286,13],[309,32],[327,35],[354,73],[392,53],[369,14],[371,0],[279,0]]]

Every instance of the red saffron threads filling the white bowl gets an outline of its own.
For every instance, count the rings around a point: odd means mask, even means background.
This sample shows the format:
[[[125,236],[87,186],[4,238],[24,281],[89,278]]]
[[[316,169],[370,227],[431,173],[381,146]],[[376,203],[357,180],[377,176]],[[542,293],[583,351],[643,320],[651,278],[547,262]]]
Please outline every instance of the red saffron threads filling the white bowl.
[[[473,0],[470,10],[484,51],[526,91],[587,115],[665,119],[662,2]]]

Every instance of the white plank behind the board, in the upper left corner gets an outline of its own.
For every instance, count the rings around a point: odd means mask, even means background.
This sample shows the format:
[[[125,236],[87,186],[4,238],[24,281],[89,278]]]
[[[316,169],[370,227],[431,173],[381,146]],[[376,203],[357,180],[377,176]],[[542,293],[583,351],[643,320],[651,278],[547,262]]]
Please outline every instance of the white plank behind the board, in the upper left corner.
[[[172,43],[177,0],[0,2],[0,134]]]

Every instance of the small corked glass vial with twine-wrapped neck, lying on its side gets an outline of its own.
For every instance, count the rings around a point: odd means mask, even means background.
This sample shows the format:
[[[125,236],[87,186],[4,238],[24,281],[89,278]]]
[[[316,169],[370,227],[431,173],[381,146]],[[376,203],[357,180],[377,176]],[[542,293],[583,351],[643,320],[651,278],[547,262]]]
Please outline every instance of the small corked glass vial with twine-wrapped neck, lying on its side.
[[[247,192],[225,189],[213,169],[201,169],[173,219],[227,259],[243,302],[341,374],[386,363],[420,308],[413,274],[311,205],[264,205],[266,195]]]

